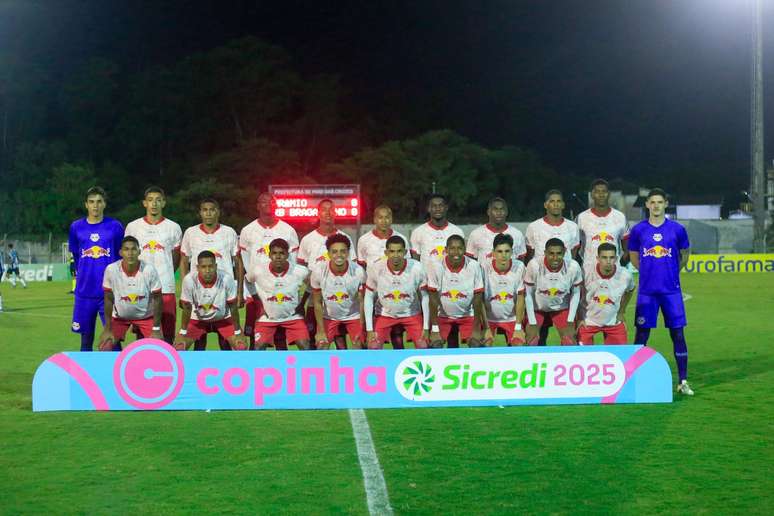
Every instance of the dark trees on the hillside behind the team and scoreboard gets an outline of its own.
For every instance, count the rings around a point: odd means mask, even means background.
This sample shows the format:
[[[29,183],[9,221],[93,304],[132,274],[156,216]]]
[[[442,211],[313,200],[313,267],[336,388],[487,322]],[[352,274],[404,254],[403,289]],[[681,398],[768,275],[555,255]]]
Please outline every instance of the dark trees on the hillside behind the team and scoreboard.
[[[272,183],[361,183],[366,209],[386,202],[409,221],[435,182],[456,220],[472,221],[494,195],[512,219],[535,218],[547,189],[580,194],[591,179],[560,177],[527,148],[489,149],[448,129],[417,134],[400,113],[377,119],[357,105],[336,76],[304,76],[285,50],[251,37],[133,74],[93,58],[55,76],[0,53],[0,233],[65,233],[92,184],[123,221],[142,214],[142,191],[157,184],[183,227],[213,196],[238,228]],[[651,177],[667,188],[688,177],[673,172]],[[723,186],[706,175],[701,188]]]

